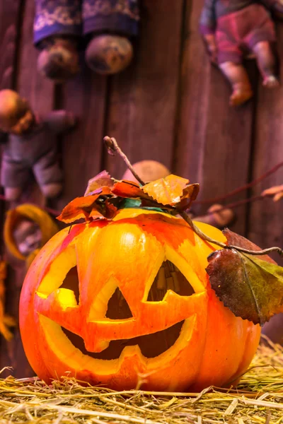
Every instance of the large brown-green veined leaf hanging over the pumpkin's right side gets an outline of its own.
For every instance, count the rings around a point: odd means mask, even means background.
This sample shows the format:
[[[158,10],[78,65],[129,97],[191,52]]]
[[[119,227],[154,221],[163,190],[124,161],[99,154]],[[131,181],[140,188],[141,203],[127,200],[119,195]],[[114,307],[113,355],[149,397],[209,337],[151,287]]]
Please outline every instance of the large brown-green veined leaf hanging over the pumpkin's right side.
[[[283,312],[283,268],[236,249],[208,258],[210,284],[226,307],[242,319],[263,325]]]

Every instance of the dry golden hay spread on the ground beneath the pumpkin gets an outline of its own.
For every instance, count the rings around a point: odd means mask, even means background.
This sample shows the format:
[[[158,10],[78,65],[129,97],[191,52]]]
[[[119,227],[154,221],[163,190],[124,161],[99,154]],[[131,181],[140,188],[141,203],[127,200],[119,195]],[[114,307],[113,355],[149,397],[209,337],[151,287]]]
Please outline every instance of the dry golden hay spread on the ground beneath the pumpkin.
[[[74,379],[47,386],[36,378],[0,380],[0,423],[283,424],[283,348],[260,346],[237,390],[159,394],[82,387]]]

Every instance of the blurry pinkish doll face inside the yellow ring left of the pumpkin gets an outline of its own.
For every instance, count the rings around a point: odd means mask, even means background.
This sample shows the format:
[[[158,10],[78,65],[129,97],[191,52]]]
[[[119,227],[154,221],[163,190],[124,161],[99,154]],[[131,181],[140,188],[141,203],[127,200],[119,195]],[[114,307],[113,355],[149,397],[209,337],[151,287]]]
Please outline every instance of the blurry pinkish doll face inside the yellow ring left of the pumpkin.
[[[42,245],[40,226],[32,220],[20,218],[13,228],[13,240],[18,251],[24,257],[28,257]]]

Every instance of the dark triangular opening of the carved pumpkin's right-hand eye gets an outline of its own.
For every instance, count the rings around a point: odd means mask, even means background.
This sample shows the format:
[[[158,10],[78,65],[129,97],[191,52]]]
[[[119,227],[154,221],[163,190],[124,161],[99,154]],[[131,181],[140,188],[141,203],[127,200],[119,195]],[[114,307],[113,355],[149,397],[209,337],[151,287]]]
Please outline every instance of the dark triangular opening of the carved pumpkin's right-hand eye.
[[[163,300],[167,290],[173,290],[180,296],[191,296],[195,293],[187,278],[171,261],[163,262],[151,285],[147,302]]]

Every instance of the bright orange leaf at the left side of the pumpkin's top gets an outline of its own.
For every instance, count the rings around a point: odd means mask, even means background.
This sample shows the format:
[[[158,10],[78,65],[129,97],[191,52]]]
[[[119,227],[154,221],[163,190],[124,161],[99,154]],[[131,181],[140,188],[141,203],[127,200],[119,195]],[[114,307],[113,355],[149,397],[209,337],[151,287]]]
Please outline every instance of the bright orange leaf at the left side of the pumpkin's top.
[[[102,187],[101,189],[97,190],[98,194],[92,195],[92,196],[84,196],[84,197],[77,197],[76,199],[72,200],[67,206],[64,207],[61,215],[57,217],[58,220],[61,220],[63,223],[74,223],[75,220],[85,218],[86,220],[89,219],[90,213],[93,210],[93,208],[96,208],[96,201],[100,196],[110,194],[111,190],[109,187]],[[101,216],[103,218],[103,215],[101,213],[95,213],[93,212],[97,217]]]

